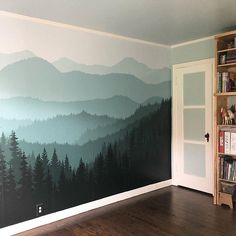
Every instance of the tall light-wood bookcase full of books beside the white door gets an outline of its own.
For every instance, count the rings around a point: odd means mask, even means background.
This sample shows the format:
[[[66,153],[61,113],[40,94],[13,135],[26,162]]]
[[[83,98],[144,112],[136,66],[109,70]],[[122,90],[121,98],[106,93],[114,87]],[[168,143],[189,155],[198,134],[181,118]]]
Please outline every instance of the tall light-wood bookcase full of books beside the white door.
[[[234,180],[236,179],[236,154],[228,154],[236,153],[236,125],[222,125],[222,122],[226,122],[226,119],[236,122],[236,113],[234,117],[229,118],[230,113],[228,112],[236,105],[236,92],[233,92],[236,89],[236,31],[217,35],[215,40],[214,203],[226,204],[232,208],[233,195],[227,193],[222,186],[231,185],[233,189],[234,185],[236,187],[236,180]],[[227,63],[229,61],[231,62]],[[223,64],[224,62],[226,63]],[[234,110],[231,111],[234,112]]]

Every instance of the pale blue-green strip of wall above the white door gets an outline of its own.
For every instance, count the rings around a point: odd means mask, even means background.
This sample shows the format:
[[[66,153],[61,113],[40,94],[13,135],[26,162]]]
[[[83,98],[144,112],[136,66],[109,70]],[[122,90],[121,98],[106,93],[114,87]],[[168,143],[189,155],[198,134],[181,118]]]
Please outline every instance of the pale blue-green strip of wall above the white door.
[[[208,39],[197,43],[172,48],[171,64],[179,64],[214,57],[215,40]]]

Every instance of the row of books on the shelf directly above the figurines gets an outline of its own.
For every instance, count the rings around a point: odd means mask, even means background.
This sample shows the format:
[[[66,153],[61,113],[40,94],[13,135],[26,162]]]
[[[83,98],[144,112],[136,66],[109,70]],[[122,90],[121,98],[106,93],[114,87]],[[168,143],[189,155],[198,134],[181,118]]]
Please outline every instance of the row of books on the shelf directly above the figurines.
[[[235,74],[230,72],[218,72],[218,93],[236,92]]]

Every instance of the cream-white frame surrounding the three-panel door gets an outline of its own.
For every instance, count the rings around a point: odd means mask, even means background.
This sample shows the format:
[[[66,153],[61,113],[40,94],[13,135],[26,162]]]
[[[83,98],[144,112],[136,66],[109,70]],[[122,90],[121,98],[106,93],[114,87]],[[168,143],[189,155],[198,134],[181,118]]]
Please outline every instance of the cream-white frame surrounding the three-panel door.
[[[212,66],[212,77],[214,77],[214,58],[210,58],[210,59],[205,59],[205,60],[199,60],[199,61],[194,61],[194,62],[188,62],[188,63],[181,63],[181,64],[176,64],[172,66],[172,151],[171,151],[171,156],[172,156],[172,161],[171,161],[171,167],[172,167],[172,184],[173,185],[179,185],[179,168],[178,168],[178,163],[179,163],[179,145],[177,143],[178,141],[178,130],[177,130],[177,117],[178,117],[178,96],[177,96],[177,70],[180,68],[185,68],[188,66],[198,66],[198,65],[203,65],[203,64],[210,64]],[[215,104],[213,102],[214,100],[214,96],[213,96],[213,91],[215,91],[215,83],[213,83],[213,78],[212,78],[212,83],[211,83],[211,90],[212,90],[212,94],[210,95],[212,97],[211,99],[211,104],[212,104],[212,112],[211,112],[211,130],[210,133],[212,134],[212,192],[213,191],[213,186],[214,186],[214,156],[215,156],[215,150],[214,150],[214,142],[215,142],[215,133],[214,133],[214,129],[213,129],[213,125],[214,125],[214,111],[215,108],[213,107],[213,105]]]

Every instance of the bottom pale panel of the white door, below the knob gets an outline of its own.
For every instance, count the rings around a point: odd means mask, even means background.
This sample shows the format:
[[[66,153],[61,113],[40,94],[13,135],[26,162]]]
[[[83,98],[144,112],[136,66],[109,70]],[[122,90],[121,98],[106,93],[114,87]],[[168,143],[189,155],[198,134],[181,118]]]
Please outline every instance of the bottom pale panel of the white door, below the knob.
[[[206,176],[205,145],[184,144],[184,173],[199,177]]]

